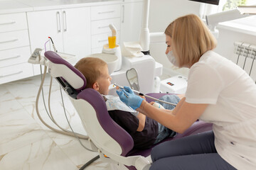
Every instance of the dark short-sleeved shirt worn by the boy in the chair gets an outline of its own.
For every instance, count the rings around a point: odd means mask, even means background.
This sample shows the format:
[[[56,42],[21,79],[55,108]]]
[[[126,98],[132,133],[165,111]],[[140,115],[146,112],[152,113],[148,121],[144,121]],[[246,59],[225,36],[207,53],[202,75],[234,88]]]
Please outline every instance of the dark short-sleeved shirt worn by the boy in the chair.
[[[142,132],[137,132],[139,119],[126,111],[108,111],[110,117],[126,130],[134,140],[134,148],[146,149],[154,145],[158,135],[158,123],[156,120],[146,117],[145,126]]]

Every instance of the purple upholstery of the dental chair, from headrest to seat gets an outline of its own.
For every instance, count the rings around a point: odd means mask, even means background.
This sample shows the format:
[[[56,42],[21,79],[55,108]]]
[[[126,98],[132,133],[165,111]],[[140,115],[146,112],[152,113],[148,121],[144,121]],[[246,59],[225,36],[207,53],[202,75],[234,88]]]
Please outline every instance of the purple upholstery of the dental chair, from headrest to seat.
[[[144,150],[133,149],[134,143],[133,143],[132,137],[124,129],[122,129],[119,125],[117,125],[117,123],[115,123],[114,120],[112,120],[112,118],[110,118],[110,115],[107,112],[107,106],[105,105],[104,98],[102,98],[102,96],[94,89],[84,89],[86,85],[86,79],[78,71],[78,69],[75,69],[75,67],[73,67],[72,64],[63,60],[63,58],[61,58],[55,52],[51,52],[51,51],[45,52],[45,56],[48,60],[50,60],[50,62],[53,62],[54,64],[64,64],[73,72],[75,72],[75,74],[77,74],[78,77],[80,77],[83,80],[82,86],[80,86],[77,89],[74,89],[76,92],[78,92],[78,94],[75,95],[75,98],[87,101],[95,109],[95,112],[97,114],[97,120],[102,126],[102,128],[122,148],[122,154],[121,154],[122,156],[124,157],[129,157],[134,155],[142,155],[144,157],[149,156],[151,149],[144,149]],[[57,79],[57,81],[63,80],[63,77],[55,77],[55,78]],[[69,80],[67,79],[65,81],[69,81]],[[63,82],[59,82],[59,83],[62,84]],[[70,86],[70,84],[66,84],[66,86]],[[73,88],[71,87],[71,89]],[[161,96],[164,96],[166,94],[148,94],[148,95],[153,96],[155,98],[160,98]],[[149,102],[152,101],[150,98],[147,98],[146,100]],[[167,140],[175,140],[184,136],[193,135],[200,132],[206,132],[208,130],[212,130],[212,124],[203,123],[202,121],[198,120],[196,121],[196,123],[193,123],[193,125],[191,125],[191,128],[188,128],[188,130],[186,130],[182,134],[177,134],[175,137],[170,137],[162,142],[165,142]],[[159,145],[159,144],[156,144],[156,145]],[[135,169],[134,166],[127,166],[127,168]]]

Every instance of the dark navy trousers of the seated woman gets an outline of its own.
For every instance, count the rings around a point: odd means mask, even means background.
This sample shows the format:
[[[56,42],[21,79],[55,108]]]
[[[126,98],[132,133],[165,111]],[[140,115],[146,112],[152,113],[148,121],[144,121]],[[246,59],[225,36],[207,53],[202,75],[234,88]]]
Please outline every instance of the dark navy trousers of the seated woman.
[[[164,142],[151,151],[150,170],[234,170],[214,146],[213,131]]]

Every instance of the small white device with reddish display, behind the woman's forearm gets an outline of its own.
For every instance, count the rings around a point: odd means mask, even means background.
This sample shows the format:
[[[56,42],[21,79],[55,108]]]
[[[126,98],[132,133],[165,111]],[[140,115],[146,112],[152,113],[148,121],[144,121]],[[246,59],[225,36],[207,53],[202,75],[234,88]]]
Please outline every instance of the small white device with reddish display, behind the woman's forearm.
[[[185,94],[188,79],[181,75],[164,79],[160,84],[160,91],[166,94]]]

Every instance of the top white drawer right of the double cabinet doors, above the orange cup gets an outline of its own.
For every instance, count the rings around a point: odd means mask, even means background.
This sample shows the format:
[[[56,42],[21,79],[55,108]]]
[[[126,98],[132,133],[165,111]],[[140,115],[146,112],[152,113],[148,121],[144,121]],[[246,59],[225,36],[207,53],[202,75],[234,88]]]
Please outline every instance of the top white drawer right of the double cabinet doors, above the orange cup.
[[[109,5],[109,6],[92,6],[91,8],[91,20],[100,20],[107,18],[118,18],[120,17],[120,5]]]

